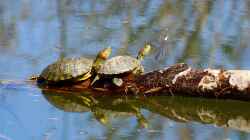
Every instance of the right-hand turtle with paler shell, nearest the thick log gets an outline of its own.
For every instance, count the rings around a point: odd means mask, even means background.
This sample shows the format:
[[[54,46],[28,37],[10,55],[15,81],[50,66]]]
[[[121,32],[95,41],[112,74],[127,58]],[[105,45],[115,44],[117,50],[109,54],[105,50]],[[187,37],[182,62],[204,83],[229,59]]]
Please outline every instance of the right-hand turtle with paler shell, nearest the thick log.
[[[101,77],[111,77],[112,83],[118,87],[123,85],[123,80],[118,78],[118,75],[124,73],[132,73],[132,74],[142,74],[144,72],[144,68],[141,65],[141,61],[144,59],[145,55],[147,55],[151,50],[151,45],[146,44],[143,48],[138,52],[138,56],[136,58],[132,56],[115,56],[108,60],[106,60],[100,68],[97,70],[97,75],[92,81],[91,85],[93,85],[97,80]]]

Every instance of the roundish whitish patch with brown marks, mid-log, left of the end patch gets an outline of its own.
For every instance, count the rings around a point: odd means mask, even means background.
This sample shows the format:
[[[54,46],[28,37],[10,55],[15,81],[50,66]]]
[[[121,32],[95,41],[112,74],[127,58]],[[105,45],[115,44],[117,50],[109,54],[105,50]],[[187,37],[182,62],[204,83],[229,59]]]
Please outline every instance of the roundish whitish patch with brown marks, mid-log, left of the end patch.
[[[217,88],[217,86],[218,86],[218,84],[217,84],[216,77],[213,75],[204,76],[201,79],[200,83],[198,84],[198,87],[202,91],[213,90],[213,89]]]

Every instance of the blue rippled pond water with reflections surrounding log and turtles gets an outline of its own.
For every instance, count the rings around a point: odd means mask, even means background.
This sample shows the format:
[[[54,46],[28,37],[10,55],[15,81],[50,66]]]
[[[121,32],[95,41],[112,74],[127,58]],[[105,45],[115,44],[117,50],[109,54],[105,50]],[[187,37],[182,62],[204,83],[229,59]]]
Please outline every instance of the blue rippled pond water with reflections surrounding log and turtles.
[[[248,0],[1,0],[0,140],[250,139],[250,102],[92,97],[24,83],[62,57],[153,50],[146,71],[185,62],[250,69]]]

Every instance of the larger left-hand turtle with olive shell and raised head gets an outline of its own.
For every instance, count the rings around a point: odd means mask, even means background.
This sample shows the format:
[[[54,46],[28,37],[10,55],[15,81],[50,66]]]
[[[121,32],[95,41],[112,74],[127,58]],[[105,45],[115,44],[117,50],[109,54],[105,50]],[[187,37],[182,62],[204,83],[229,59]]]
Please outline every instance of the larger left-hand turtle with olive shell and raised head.
[[[48,65],[38,76],[38,79],[43,79],[48,83],[87,80],[92,76],[93,69],[99,68],[109,57],[111,51],[111,47],[101,50],[95,60],[85,57],[60,59]]]

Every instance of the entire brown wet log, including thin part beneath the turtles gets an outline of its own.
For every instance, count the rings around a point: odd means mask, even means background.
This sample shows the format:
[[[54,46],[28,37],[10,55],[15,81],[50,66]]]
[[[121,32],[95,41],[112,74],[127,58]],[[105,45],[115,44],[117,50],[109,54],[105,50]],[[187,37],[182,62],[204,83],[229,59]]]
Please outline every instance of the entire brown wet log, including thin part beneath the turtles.
[[[63,86],[45,86],[66,91],[88,91],[93,94],[132,95],[188,95],[211,98],[250,99],[250,71],[194,69],[186,64],[176,64],[165,69],[134,76],[120,75],[124,84],[116,87],[111,78],[90,86],[91,79]]]

